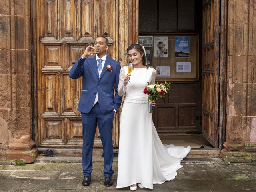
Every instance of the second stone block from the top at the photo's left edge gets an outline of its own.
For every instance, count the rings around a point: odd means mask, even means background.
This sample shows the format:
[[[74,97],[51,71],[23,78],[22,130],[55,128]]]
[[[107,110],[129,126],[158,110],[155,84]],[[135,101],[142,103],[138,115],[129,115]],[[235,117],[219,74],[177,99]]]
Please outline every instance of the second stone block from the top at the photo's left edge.
[[[0,15],[0,48],[10,49],[10,16]]]

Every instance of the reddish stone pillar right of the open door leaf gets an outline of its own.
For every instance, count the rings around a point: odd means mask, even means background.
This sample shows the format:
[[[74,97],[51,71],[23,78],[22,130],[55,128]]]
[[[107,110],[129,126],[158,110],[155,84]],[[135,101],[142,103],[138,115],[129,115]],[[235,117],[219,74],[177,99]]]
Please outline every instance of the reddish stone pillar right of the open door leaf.
[[[228,0],[226,161],[256,161],[255,37],[256,1]]]

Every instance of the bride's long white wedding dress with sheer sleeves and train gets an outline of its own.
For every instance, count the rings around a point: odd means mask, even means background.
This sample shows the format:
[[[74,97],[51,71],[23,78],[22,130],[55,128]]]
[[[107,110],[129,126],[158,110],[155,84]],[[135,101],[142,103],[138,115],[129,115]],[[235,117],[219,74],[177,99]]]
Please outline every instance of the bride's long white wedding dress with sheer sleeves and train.
[[[190,152],[190,146],[164,146],[149,113],[148,95],[144,87],[155,83],[156,70],[134,68],[127,87],[123,85],[128,67],[120,70],[118,95],[125,93],[121,113],[118,154],[117,188],[141,183],[153,189],[175,178],[180,162]]]

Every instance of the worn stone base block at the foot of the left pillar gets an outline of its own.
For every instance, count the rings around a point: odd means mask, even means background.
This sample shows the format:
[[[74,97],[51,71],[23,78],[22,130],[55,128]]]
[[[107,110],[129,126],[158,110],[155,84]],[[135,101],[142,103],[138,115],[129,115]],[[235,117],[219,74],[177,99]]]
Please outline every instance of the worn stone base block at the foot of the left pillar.
[[[8,160],[24,160],[26,163],[33,163],[37,158],[37,148],[31,150],[8,150]]]

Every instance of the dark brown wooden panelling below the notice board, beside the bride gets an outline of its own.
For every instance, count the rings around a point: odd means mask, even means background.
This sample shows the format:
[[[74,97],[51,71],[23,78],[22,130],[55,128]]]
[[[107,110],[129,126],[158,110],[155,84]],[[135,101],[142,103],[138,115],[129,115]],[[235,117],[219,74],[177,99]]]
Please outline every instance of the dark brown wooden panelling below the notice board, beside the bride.
[[[156,130],[199,133],[200,105],[200,82],[172,83],[168,96],[159,99],[154,109]]]

